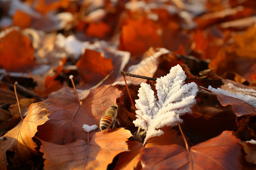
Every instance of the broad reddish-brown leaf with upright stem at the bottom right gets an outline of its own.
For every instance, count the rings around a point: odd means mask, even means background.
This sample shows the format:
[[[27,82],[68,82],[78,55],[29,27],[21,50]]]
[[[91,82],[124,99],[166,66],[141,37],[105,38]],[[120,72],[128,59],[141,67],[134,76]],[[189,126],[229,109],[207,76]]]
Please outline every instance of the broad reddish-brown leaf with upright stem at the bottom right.
[[[240,169],[240,139],[232,131],[191,147],[193,169]],[[178,145],[143,148],[143,169],[191,169],[188,151]]]

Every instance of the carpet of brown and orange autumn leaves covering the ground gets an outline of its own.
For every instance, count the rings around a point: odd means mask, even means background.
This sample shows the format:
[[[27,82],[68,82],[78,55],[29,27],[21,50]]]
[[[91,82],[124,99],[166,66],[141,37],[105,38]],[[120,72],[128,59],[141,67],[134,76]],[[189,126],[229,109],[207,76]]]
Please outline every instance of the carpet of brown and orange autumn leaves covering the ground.
[[[250,0],[0,0],[1,167],[255,168],[249,142],[256,139],[255,107],[245,99],[255,97],[255,7]],[[181,116],[189,150],[180,129],[160,126],[159,116],[152,122],[164,133],[145,140],[147,130],[135,128],[136,113],[118,74],[160,78],[177,64],[185,83],[199,88],[192,113]],[[142,82],[156,96],[154,81],[126,79],[134,103]],[[22,114],[40,101],[21,121],[11,106],[14,82],[24,87],[19,99],[28,102]],[[121,127],[98,132],[112,104],[118,105]]]

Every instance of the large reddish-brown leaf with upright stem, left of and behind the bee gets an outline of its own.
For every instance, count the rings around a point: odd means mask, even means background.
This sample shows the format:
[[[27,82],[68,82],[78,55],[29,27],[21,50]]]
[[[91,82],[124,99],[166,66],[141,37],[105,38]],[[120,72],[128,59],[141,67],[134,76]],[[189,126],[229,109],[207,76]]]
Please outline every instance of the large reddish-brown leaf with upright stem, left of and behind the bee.
[[[49,121],[39,126],[36,136],[60,145],[77,139],[87,141],[82,125],[98,125],[102,114],[113,104],[113,100],[121,97],[122,91],[109,85],[80,92],[79,95],[84,95],[81,105],[71,88],[65,87],[49,95],[47,109],[52,113]]]

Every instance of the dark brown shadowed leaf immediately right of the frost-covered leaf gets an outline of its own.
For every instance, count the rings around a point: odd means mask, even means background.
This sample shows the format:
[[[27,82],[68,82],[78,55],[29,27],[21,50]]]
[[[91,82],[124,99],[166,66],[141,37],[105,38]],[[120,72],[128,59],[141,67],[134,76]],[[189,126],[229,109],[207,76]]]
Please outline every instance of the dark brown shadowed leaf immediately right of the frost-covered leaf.
[[[192,114],[181,118],[184,133],[192,143],[199,143],[216,137],[224,130],[237,131],[236,116],[230,106],[223,107],[216,95],[209,91],[199,90]],[[225,125],[225,126],[224,126]]]

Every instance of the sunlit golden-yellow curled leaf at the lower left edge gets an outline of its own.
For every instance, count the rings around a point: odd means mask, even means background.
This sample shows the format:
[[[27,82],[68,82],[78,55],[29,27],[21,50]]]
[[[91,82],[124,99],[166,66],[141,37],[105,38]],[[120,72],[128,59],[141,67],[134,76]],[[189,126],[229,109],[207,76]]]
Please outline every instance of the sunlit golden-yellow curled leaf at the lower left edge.
[[[37,145],[32,137],[34,137],[38,125],[42,125],[48,120],[47,116],[50,112],[45,108],[46,104],[44,103],[31,104],[24,120],[4,135],[6,140],[0,141],[0,166],[2,168],[6,168],[7,165],[6,151],[14,152],[15,161],[18,162],[19,159],[26,161],[32,154],[38,154],[35,150]]]

